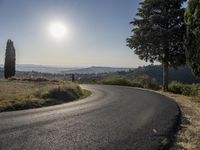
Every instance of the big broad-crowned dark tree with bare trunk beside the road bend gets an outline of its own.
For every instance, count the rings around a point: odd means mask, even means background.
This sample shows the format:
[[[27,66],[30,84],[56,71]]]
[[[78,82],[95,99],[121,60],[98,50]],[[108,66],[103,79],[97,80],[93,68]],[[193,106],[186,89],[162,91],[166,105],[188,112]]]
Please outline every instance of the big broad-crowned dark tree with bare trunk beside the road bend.
[[[183,2],[186,0],[144,0],[138,8],[133,35],[127,45],[145,61],[163,65],[163,89],[168,90],[168,68],[185,64]]]

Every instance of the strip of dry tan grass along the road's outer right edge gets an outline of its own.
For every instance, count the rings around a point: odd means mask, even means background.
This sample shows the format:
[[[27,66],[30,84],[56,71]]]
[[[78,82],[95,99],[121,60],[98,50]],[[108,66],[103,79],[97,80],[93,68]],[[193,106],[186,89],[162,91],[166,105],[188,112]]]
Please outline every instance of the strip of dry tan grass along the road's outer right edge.
[[[177,134],[177,141],[172,149],[200,150],[200,103],[196,98],[163,93],[173,98],[182,111],[181,130]]]

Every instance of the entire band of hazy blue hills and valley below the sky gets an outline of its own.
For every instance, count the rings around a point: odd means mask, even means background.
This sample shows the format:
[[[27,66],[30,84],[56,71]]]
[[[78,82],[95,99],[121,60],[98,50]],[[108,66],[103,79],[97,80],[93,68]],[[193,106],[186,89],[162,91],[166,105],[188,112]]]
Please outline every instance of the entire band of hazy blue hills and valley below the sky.
[[[70,74],[75,73],[76,78],[83,83],[90,83],[94,80],[110,79],[115,76],[134,79],[138,76],[148,75],[151,78],[154,78],[157,83],[162,84],[162,76],[163,76],[161,65],[149,65],[149,66],[138,67],[135,69],[94,67],[94,66],[89,68],[74,69],[74,68],[48,67],[40,65],[17,65],[17,70],[18,70],[17,72],[18,76],[26,76],[26,77],[44,76],[44,77],[61,78],[61,79],[63,78],[70,79],[71,77]],[[3,77],[4,77],[3,66],[0,65],[0,79]],[[185,84],[191,84],[191,83],[200,83],[200,78],[193,76],[190,68],[184,66],[184,67],[179,67],[178,69],[173,69],[173,68],[169,69],[169,82],[171,81],[179,81]]]

